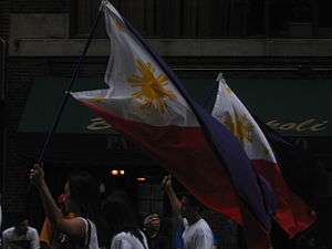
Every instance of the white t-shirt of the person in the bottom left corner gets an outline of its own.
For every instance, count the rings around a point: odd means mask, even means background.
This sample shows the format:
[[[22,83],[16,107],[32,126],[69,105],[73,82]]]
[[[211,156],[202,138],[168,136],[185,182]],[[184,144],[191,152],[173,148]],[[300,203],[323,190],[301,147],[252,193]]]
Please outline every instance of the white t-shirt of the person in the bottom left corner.
[[[17,235],[14,227],[8,228],[2,232],[3,248],[10,248],[10,245],[30,245],[30,249],[39,249],[39,236],[34,228],[28,227],[25,235]]]

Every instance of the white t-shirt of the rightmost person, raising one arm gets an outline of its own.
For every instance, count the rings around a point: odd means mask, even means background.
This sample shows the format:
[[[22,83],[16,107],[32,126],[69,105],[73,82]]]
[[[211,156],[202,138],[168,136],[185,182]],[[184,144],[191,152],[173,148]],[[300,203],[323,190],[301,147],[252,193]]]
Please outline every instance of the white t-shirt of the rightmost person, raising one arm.
[[[199,219],[197,222],[189,225],[187,219],[184,219],[183,240],[185,249],[212,249],[214,234],[209,225]]]

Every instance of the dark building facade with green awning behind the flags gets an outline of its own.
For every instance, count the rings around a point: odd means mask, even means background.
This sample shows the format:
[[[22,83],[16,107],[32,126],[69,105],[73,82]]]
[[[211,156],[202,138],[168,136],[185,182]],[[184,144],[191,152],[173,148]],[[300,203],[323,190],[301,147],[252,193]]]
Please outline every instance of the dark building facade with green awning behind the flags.
[[[329,97],[324,94],[332,87],[329,1],[112,2],[187,82],[198,101],[205,103],[204,95],[218,72],[224,72],[252,112],[260,110],[258,115],[264,122],[312,152],[331,174],[331,103],[322,98]],[[27,193],[28,169],[39,156],[98,2],[12,0],[0,4],[4,6],[0,34],[9,44],[2,160],[2,209],[8,226],[11,215],[39,206],[34,194]],[[110,53],[103,21],[84,60],[76,84],[83,83],[77,89],[102,82]],[[286,87],[292,91],[283,91]],[[103,121],[87,115],[76,128],[73,124],[82,118],[72,114],[64,114],[44,158],[46,173],[56,176],[56,180],[49,179],[55,194],[61,193],[69,169],[93,168],[106,189],[127,187],[142,215],[164,211],[158,183],[166,173]],[[112,169],[125,170],[125,176],[112,176]],[[139,181],[144,178],[148,183]],[[331,179],[322,191],[331,195]]]

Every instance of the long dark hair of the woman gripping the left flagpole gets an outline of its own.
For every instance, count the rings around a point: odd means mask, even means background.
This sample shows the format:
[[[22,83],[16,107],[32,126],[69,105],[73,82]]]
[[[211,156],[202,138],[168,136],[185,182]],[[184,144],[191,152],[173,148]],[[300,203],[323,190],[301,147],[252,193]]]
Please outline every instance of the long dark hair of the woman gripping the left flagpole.
[[[96,226],[98,243],[105,245],[105,222],[101,216],[98,185],[87,172],[69,176],[70,211],[93,221]]]

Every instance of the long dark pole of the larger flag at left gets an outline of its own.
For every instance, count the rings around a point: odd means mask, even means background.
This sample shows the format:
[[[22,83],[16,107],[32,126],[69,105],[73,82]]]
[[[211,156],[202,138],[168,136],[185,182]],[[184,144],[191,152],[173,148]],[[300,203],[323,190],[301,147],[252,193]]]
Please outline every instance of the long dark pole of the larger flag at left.
[[[94,23],[93,23],[93,27],[92,27],[92,29],[91,29],[91,31],[90,31],[90,34],[89,34],[87,41],[86,41],[86,43],[85,43],[84,50],[83,50],[83,52],[82,52],[82,54],[81,54],[81,56],[80,56],[80,59],[79,59],[79,62],[77,62],[77,65],[76,65],[76,69],[75,69],[75,71],[74,71],[74,73],[73,73],[73,75],[72,75],[70,85],[68,86],[68,89],[66,89],[66,91],[65,91],[64,98],[63,98],[63,101],[62,101],[62,103],[61,103],[61,105],[60,105],[60,107],[59,107],[59,110],[58,110],[58,112],[56,112],[56,114],[55,114],[54,122],[53,122],[53,124],[52,124],[52,126],[51,126],[51,128],[50,128],[50,131],[49,131],[48,137],[46,137],[46,139],[45,139],[45,142],[44,142],[44,144],[43,144],[43,148],[41,149],[41,153],[40,153],[40,155],[39,155],[38,164],[40,164],[40,165],[41,165],[41,163],[42,163],[42,160],[43,160],[43,158],[44,158],[44,154],[45,154],[45,151],[46,151],[46,148],[48,148],[48,146],[49,146],[49,144],[50,144],[50,141],[51,141],[51,138],[52,138],[52,136],[53,136],[53,134],[54,134],[54,132],[55,132],[55,129],[56,129],[56,127],[58,127],[58,125],[59,125],[59,123],[60,123],[60,117],[61,117],[61,115],[62,115],[62,113],[63,113],[63,110],[64,110],[64,106],[65,106],[65,104],[66,104],[66,102],[68,102],[68,100],[69,100],[70,92],[71,92],[71,90],[72,90],[72,87],[73,87],[73,85],[74,85],[74,82],[75,82],[76,79],[77,79],[77,75],[79,75],[79,72],[80,72],[80,69],[81,69],[81,64],[82,64],[83,59],[85,58],[86,52],[87,52],[87,50],[89,50],[89,48],[90,48],[90,44],[91,44],[93,34],[94,34],[94,32],[95,32],[95,29],[96,29],[97,23],[98,23],[98,20],[100,20],[100,17],[102,15],[102,12],[103,12],[103,4],[104,4],[104,0],[102,0],[102,2],[101,2],[101,7],[100,7],[100,9],[98,9],[97,17],[96,17],[96,19],[94,20]]]

